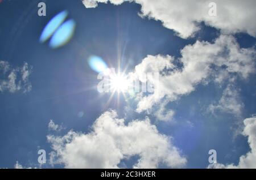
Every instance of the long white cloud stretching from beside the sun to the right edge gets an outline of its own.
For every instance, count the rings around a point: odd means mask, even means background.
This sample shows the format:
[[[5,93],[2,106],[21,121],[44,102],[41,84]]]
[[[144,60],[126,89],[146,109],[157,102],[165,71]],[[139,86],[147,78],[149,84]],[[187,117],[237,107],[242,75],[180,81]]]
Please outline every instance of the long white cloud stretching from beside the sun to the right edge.
[[[237,75],[246,79],[255,72],[255,54],[253,48],[240,48],[233,36],[221,35],[213,43],[197,41],[185,46],[181,58],[177,59],[183,64],[181,68],[176,67],[175,58],[170,55],[148,55],[135,67],[135,76],[142,82],[141,74],[159,72],[160,76],[158,82],[151,82],[155,84],[154,93],[139,98],[137,112],[152,108],[164,97],[174,101],[188,95],[197,84],[208,82],[210,78],[224,80],[229,75]]]

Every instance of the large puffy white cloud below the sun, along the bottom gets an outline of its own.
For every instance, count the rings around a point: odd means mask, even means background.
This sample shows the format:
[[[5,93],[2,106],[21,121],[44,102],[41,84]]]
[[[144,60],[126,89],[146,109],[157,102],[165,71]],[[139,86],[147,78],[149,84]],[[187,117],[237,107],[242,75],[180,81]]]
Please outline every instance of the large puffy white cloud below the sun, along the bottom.
[[[92,126],[92,132],[69,131],[64,136],[48,135],[52,144],[51,163],[65,168],[118,168],[125,158],[138,155],[133,168],[181,168],[187,160],[172,144],[169,136],[158,132],[150,120],[118,119],[114,111],[102,114]]]

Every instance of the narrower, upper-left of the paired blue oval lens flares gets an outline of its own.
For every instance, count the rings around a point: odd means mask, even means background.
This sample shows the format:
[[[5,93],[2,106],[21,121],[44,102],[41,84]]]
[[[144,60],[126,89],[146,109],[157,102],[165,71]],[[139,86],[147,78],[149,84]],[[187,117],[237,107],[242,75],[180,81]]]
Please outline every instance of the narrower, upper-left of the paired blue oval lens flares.
[[[52,18],[43,30],[42,35],[40,36],[40,42],[46,42],[53,35],[56,29],[60,27],[60,25],[64,22],[67,16],[68,11],[65,10],[57,14],[54,18]]]

